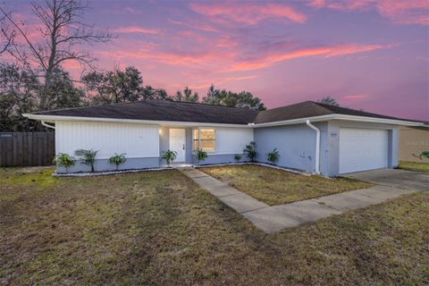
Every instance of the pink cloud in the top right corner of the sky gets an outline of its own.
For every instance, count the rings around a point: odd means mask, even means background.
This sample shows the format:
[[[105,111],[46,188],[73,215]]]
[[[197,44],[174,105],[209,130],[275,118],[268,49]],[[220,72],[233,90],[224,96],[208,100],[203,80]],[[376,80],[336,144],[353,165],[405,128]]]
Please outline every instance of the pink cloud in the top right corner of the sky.
[[[345,12],[374,9],[394,23],[429,25],[427,0],[314,0],[309,5],[314,8],[330,8]]]

